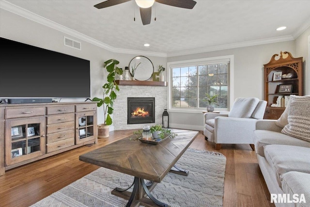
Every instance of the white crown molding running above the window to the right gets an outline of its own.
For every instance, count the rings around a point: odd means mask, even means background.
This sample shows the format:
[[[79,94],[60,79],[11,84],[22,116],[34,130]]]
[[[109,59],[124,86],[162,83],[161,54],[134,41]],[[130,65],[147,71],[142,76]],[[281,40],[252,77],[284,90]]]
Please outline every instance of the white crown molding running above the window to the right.
[[[227,44],[227,45],[219,45],[219,46],[213,46],[213,47],[195,48],[195,49],[188,49],[188,50],[183,50],[183,51],[168,52],[167,57],[190,55],[190,54],[211,52],[211,51],[217,51],[217,50],[223,50],[223,49],[243,48],[243,47],[248,47],[248,46],[264,45],[264,44],[285,42],[285,41],[291,41],[291,40],[294,40],[294,37],[292,35],[287,35],[287,36],[266,38],[266,39],[233,43],[233,44]]]

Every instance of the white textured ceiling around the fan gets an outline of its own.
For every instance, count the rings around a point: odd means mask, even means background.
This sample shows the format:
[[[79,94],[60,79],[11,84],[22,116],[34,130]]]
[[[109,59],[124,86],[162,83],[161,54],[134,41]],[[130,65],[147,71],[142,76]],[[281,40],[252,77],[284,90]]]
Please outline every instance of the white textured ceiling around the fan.
[[[158,52],[168,56],[292,40],[310,26],[310,0],[196,0],[192,10],[155,2],[151,24],[144,26],[133,0],[104,9],[93,7],[102,1],[3,2],[43,16],[110,48]],[[133,20],[134,13],[136,21]],[[287,29],[276,31],[280,26]],[[144,43],[151,46],[146,48]]]

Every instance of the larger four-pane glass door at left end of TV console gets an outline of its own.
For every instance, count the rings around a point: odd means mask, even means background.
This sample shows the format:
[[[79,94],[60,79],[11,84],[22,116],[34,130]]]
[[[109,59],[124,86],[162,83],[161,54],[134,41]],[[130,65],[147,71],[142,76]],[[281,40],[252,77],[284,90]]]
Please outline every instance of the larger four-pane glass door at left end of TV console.
[[[6,165],[45,154],[45,118],[6,122]]]

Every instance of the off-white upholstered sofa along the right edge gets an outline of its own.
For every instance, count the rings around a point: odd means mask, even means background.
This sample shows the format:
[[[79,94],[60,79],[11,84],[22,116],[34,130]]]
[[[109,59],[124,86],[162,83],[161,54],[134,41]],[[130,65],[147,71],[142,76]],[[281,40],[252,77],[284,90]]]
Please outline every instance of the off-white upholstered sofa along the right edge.
[[[307,101],[309,102],[306,106],[309,110],[310,97]],[[285,127],[294,124],[294,117],[290,116],[292,108],[288,106],[287,111],[289,111],[288,115],[282,114],[282,116],[288,116],[292,122]],[[300,113],[301,116],[305,115],[305,112]],[[269,192],[286,196],[290,194],[291,200],[294,200],[293,194],[298,195],[298,199],[302,198],[301,194],[303,194],[306,200],[306,203],[275,203],[277,207],[310,207],[310,125],[307,124],[310,123],[310,112],[306,113],[301,119],[306,139],[281,133],[283,127],[278,126],[277,120],[258,120],[256,123],[255,151]],[[301,202],[301,200],[298,201]]]

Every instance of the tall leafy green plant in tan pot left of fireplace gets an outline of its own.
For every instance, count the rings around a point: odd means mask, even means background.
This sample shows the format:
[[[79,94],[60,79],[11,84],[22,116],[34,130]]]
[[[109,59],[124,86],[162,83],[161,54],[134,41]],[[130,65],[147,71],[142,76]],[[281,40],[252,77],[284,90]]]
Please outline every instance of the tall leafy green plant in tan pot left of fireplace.
[[[104,124],[98,125],[98,138],[109,137],[109,125],[113,123],[111,114],[113,113],[113,103],[117,97],[116,92],[119,91],[119,87],[115,82],[115,75],[122,75],[123,70],[117,67],[120,62],[115,59],[110,59],[104,63],[104,67],[109,72],[107,80],[102,88],[104,89],[103,97],[94,97],[93,101],[97,101],[97,107],[103,106]]]

